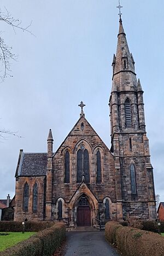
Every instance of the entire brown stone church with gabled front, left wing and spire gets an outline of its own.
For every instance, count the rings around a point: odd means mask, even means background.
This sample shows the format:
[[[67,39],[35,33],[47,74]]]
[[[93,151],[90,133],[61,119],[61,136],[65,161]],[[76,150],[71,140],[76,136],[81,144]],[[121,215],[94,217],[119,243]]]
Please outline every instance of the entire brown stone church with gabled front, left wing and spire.
[[[53,152],[20,150],[16,168],[14,220],[63,219],[69,226],[156,218],[153,167],[145,131],[143,90],[120,16],[109,98],[111,148],[80,118]]]

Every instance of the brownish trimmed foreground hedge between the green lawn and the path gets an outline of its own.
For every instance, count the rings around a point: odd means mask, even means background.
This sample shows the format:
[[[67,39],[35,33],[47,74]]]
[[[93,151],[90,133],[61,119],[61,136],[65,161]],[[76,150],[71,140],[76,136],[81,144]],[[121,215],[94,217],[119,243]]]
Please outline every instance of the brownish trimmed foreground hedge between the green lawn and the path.
[[[27,240],[0,252],[0,256],[49,256],[52,255],[61,245],[61,242],[65,240],[65,235],[65,223],[56,223],[51,228],[44,229]]]

